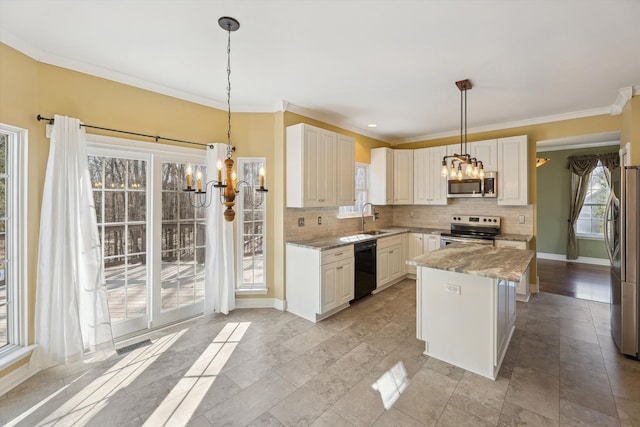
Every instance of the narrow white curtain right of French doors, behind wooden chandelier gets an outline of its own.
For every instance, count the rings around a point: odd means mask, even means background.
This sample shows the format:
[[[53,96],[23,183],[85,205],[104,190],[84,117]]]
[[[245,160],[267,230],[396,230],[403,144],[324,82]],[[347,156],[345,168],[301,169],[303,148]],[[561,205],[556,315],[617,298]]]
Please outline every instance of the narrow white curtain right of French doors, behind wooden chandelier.
[[[217,177],[218,160],[226,158],[226,144],[207,147],[207,180]],[[224,175],[224,171],[223,171]],[[224,176],[223,176],[224,179]],[[233,223],[224,219],[224,206],[214,188],[213,200],[207,208],[207,255],[204,270],[204,313],[228,314],[236,308],[233,251]],[[236,220],[239,215],[236,213]]]

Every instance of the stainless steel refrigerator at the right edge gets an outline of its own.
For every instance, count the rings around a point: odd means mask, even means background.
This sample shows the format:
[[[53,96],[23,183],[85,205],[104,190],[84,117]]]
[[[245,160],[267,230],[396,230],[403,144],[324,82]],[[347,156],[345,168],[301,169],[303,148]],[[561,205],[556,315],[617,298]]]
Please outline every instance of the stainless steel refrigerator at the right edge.
[[[611,184],[605,226],[611,261],[611,335],[621,353],[638,357],[638,167],[616,168],[611,174]]]

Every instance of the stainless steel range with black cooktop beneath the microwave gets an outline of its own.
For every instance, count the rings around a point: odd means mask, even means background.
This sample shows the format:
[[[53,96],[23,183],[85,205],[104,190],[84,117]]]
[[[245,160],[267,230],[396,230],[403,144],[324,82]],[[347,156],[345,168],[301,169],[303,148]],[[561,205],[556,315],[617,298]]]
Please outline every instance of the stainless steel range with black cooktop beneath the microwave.
[[[440,234],[440,247],[451,243],[493,245],[498,234],[499,216],[454,215],[451,218],[451,232]]]

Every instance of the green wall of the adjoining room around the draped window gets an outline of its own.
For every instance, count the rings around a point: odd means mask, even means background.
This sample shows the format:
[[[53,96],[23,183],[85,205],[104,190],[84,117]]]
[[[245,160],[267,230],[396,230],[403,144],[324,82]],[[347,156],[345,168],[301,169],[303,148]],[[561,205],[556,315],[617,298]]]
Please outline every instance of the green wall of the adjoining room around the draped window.
[[[567,253],[567,220],[571,192],[571,172],[567,169],[567,158],[580,154],[617,152],[618,146],[580,148],[539,152],[538,157],[551,161],[536,168],[538,200],[538,252]],[[578,256],[607,258],[602,240],[578,239]]]

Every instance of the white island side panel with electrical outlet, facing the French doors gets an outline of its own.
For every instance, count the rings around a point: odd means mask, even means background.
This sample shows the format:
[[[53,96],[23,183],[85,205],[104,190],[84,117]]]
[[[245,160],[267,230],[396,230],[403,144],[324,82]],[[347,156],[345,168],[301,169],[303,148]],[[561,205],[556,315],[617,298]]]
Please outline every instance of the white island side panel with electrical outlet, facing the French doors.
[[[495,379],[496,279],[418,267],[425,354]]]

